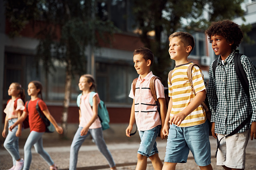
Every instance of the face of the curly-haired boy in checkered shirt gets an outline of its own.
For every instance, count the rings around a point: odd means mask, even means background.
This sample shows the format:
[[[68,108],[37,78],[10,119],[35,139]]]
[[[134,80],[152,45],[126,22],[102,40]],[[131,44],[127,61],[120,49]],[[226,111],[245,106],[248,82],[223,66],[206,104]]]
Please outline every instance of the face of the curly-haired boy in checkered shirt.
[[[210,43],[215,55],[220,55],[222,60],[225,60],[232,52],[232,44],[228,44],[226,39],[221,35],[211,36]]]

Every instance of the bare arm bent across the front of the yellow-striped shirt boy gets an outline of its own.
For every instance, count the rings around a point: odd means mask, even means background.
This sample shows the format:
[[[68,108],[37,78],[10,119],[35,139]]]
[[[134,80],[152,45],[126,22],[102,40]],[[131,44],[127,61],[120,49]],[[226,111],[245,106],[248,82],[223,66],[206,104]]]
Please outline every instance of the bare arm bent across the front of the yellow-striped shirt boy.
[[[185,109],[183,109],[180,113],[175,114],[170,118],[170,124],[174,123],[177,126],[179,126],[181,122],[205,100],[205,97],[206,90],[198,92],[197,95],[193,98],[193,100]]]

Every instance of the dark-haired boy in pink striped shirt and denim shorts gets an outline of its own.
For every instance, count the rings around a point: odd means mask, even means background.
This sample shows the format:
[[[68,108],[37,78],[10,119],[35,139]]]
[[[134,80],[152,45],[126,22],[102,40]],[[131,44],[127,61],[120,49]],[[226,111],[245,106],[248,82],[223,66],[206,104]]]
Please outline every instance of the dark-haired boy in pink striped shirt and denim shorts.
[[[131,136],[133,124],[136,120],[141,139],[137,152],[138,162],[136,170],[146,169],[148,157],[152,161],[154,169],[162,169],[163,165],[158,156],[155,140],[158,134],[164,139],[162,128],[166,116],[166,105],[164,88],[159,79],[155,80],[154,85],[156,97],[160,104],[160,113],[157,111],[157,105],[150,91],[150,79],[154,76],[150,71],[150,66],[153,64],[153,61],[154,55],[148,48],[139,48],[133,53],[134,67],[139,77],[136,82],[135,96],[133,86],[129,94],[129,97],[133,99],[133,104],[126,135],[128,137]],[[162,117],[162,119],[160,117]]]

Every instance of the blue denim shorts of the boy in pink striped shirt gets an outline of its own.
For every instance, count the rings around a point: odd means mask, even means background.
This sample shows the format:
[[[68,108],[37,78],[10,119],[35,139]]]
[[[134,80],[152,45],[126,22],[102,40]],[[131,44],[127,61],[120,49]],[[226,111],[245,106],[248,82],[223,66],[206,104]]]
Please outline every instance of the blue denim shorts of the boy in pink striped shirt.
[[[160,133],[160,130],[161,125],[158,125],[150,130],[139,131],[141,142],[137,153],[147,157],[158,153],[155,139]]]

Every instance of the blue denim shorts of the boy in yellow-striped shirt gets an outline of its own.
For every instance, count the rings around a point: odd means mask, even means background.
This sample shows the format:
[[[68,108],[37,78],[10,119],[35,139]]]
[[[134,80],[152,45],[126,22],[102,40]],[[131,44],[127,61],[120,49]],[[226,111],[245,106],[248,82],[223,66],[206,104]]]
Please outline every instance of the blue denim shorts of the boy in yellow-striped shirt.
[[[170,125],[164,162],[185,163],[189,151],[199,166],[211,163],[208,121],[191,127]]]

